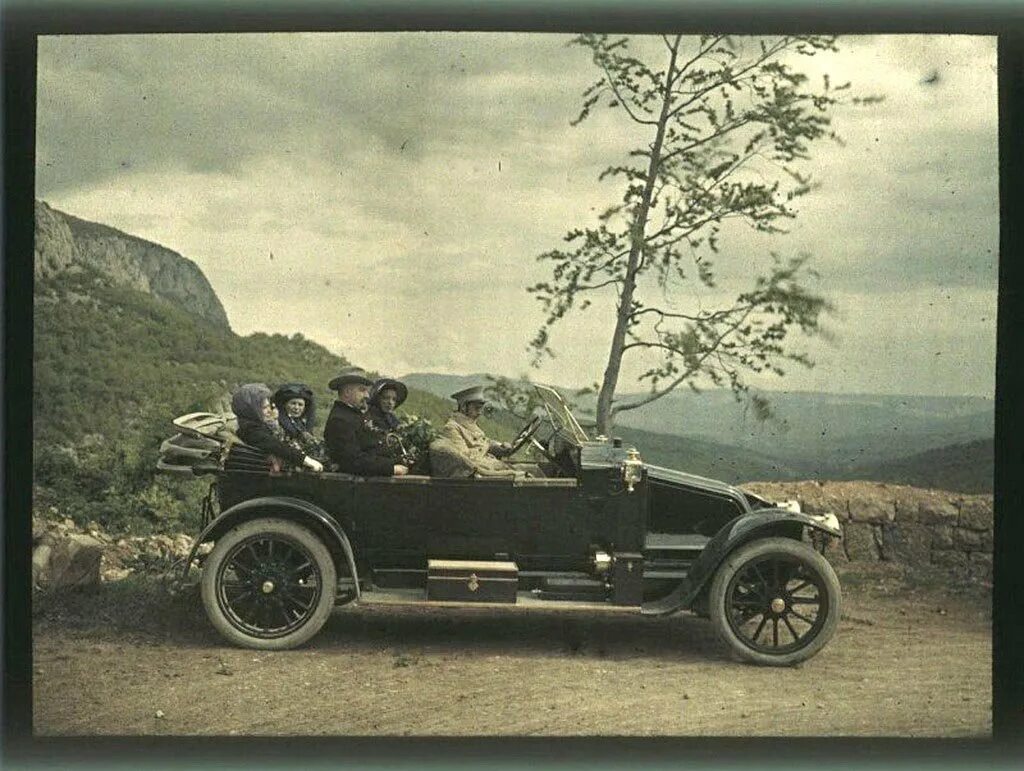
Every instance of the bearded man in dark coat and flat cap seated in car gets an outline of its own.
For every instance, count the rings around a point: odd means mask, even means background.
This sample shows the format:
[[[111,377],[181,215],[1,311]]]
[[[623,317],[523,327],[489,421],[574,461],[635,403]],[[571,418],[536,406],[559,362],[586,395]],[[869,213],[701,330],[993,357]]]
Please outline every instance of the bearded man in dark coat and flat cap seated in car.
[[[396,464],[381,446],[382,434],[374,431],[367,418],[371,381],[361,370],[350,367],[328,387],[338,392],[324,426],[328,457],[338,470],[358,476],[403,476],[409,468]]]

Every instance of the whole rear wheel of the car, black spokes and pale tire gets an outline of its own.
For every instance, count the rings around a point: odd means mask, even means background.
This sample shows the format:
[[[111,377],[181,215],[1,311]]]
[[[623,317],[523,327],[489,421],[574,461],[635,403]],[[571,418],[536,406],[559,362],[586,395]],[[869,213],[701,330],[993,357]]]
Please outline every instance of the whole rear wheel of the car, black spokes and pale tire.
[[[203,604],[229,642],[285,650],[315,635],[334,608],[327,547],[302,525],[254,519],[222,536],[203,565]]]

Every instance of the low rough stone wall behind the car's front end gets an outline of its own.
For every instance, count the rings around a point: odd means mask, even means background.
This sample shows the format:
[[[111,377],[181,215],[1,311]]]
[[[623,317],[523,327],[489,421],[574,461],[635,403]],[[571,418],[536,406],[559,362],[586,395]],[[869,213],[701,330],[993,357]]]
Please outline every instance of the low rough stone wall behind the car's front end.
[[[931,565],[957,576],[992,580],[992,497],[876,482],[751,482],[771,501],[796,499],[811,514],[831,512],[843,541],[833,562]]]

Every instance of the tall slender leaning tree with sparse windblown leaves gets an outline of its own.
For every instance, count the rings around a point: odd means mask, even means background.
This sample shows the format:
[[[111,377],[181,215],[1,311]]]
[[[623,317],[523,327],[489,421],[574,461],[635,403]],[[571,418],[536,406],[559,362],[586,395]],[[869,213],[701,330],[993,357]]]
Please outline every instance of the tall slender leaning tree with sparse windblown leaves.
[[[829,309],[805,286],[813,274],[807,256],[782,260],[773,253],[767,271],[724,307],[679,309],[669,292],[686,281],[715,287],[710,258],[719,253],[724,222],[782,232],[781,223],[796,215],[793,202],[812,181],[795,162],[809,157],[812,141],[839,139],[829,113],[849,84],[833,88],[825,76],[812,89],[790,62],[836,50],[835,39],[663,37],[659,70],[631,55],[626,38],[581,35],[572,42],[588,48],[600,70],[573,125],[605,102],[649,141],[599,177],[625,183],[622,202],[601,213],[597,226],[570,230],[566,248],[538,258],[551,264],[552,275],[528,290],[546,312],[530,343],[535,363],[553,355],[551,329],[566,313],[586,310],[597,293],[614,292],[607,363],[600,385],[595,383],[599,432],[607,433],[618,413],[684,383],[694,389],[728,385],[737,398],[750,398],[757,414],[767,415],[767,401],[750,394],[743,376],[781,375],[783,361],[810,367],[805,354],[786,346],[787,334],[794,328],[821,334],[820,318]],[[649,297],[658,290],[663,299],[653,304]],[[654,361],[640,378],[649,392],[616,399],[623,359],[640,352]]]

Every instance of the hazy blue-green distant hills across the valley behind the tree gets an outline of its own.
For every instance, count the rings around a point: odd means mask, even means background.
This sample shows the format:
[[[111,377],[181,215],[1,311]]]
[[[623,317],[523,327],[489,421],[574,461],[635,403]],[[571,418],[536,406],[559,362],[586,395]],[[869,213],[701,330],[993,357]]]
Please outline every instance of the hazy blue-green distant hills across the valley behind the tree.
[[[486,376],[414,373],[406,381],[436,394],[450,394],[474,383],[486,383]],[[571,391],[560,389],[563,392]],[[646,445],[658,447],[659,457],[674,459],[687,469],[686,460],[706,463],[708,468],[732,471],[739,478],[748,468],[764,468],[775,479],[878,478],[880,481],[913,483],[916,457],[935,451],[936,458],[963,458],[961,445],[983,446],[994,434],[992,399],[977,396],[916,396],[888,394],[830,394],[777,391],[766,394],[775,418],[758,423],[726,390],[671,393],[640,410],[623,413],[616,435],[644,432]],[[592,409],[593,397],[577,397],[582,410]],[[644,446],[643,442],[639,442]],[[645,457],[650,452],[645,452]],[[931,457],[931,456],[929,456]],[[904,463],[905,459],[905,463]],[[653,460],[653,458],[652,458]],[[658,461],[659,462],[659,461]],[[724,465],[723,465],[724,464]],[[858,476],[868,469],[896,469],[910,476]],[[710,473],[690,468],[696,473]],[[951,470],[950,470],[951,471]],[[987,476],[986,476],[987,474]],[[957,478],[972,489],[987,484],[991,474],[984,465],[964,468]],[[985,481],[989,479],[989,481]]]

